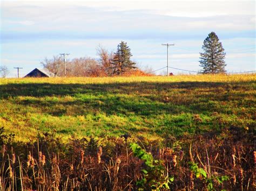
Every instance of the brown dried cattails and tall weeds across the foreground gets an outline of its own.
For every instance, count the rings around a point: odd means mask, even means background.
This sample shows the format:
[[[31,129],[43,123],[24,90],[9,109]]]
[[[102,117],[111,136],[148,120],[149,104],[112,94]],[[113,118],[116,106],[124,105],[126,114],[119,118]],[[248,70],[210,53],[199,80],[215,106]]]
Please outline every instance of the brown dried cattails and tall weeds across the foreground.
[[[5,136],[2,133],[2,190],[148,190],[161,187],[165,177],[172,178],[165,185],[172,190],[255,189],[253,133],[247,130],[231,128],[218,137],[205,134],[164,143],[112,137],[101,144],[94,138],[63,144],[48,134],[17,144]],[[145,152],[133,154],[130,143],[152,155],[153,163]]]

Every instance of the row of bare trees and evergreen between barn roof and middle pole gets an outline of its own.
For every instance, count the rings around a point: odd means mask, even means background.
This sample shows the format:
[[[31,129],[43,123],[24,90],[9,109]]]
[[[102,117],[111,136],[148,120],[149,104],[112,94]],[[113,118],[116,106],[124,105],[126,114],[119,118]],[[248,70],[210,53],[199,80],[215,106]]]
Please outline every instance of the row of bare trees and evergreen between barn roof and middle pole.
[[[123,76],[123,75],[146,75],[139,69],[137,63],[131,60],[131,49],[122,41],[117,46],[116,52],[110,52],[102,46],[97,47],[99,59],[90,57],[75,58],[66,61],[67,76]],[[61,56],[45,58],[41,65],[48,69],[53,76],[64,76],[64,62]]]

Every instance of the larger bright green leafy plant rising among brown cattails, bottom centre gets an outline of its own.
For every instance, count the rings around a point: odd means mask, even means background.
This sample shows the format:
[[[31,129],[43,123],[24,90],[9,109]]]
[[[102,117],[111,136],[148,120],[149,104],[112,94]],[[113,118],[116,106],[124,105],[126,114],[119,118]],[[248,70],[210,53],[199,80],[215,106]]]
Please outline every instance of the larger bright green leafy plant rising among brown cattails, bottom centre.
[[[130,148],[135,157],[145,161],[145,168],[142,169],[143,178],[136,182],[140,190],[143,189],[170,189],[169,184],[174,180],[169,177],[161,160],[154,160],[151,153],[147,153],[136,143],[131,143]]]

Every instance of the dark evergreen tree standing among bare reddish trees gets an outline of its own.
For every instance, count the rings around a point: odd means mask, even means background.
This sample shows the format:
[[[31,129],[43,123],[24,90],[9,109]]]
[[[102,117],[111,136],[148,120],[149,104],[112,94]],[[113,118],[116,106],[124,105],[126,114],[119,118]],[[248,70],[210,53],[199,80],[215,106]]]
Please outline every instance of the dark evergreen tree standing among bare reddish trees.
[[[137,68],[134,66],[136,63],[130,60],[131,56],[131,49],[127,46],[127,43],[121,41],[117,46],[117,52],[114,53],[111,60],[113,75],[122,75],[130,69]]]

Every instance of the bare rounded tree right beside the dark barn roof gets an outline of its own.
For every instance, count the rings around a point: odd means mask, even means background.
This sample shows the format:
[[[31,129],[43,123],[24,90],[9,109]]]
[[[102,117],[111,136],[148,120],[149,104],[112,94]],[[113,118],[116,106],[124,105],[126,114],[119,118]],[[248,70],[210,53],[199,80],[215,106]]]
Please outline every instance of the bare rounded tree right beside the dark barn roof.
[[[45,58],[44,61],[41,62],[41,65],[48,69],[53,76],[61,76],[63,69],[63,63],[60,56],[53,56],[52,59]]]

